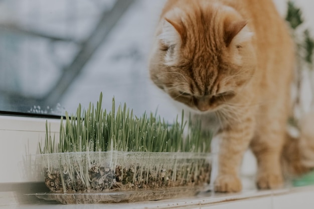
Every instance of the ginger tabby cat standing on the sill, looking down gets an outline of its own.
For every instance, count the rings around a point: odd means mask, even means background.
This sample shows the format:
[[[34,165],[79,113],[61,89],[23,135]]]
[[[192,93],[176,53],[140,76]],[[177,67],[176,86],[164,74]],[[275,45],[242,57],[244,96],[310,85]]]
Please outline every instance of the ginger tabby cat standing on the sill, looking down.
[[[298,142],[286,134],[294,44],[271,0],[169,0],[149,72],[156,86],[203,120],[203,128],[217,127],[216,191],[242,189],[238,171],[248,147],[261,189],[282,185],[283,156],[295,173],[309,169],[301,164]]]

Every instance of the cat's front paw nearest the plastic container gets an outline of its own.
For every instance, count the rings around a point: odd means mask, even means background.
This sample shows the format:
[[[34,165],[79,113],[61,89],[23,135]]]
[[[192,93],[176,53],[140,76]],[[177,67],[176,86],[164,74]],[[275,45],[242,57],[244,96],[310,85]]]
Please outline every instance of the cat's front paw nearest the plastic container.
[[[215,180],[215,191],[238,192],[242,189],[241,180],[234,175],[219,175]]]

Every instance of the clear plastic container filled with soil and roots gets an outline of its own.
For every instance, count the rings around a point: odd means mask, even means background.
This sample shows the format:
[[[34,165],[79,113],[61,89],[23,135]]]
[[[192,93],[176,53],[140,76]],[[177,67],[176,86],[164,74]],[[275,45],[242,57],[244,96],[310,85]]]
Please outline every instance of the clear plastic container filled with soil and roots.
[[[210,182],[211,155],[73,152],[40,155],[50,193],[62,203],[155,200],[194,195]]]

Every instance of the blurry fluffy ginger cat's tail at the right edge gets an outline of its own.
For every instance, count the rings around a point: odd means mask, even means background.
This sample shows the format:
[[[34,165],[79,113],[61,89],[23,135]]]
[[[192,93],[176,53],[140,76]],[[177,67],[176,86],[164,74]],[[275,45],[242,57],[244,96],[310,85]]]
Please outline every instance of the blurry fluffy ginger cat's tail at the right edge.
[[[283,147],[284,173],[301,175],[314,168],[314,111],[300,121],[298,137],[287,134]]]

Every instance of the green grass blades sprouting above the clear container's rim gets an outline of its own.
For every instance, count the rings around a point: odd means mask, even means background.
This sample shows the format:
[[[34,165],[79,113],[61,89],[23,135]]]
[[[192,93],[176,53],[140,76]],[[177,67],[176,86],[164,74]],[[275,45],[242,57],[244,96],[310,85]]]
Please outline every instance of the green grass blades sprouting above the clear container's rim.
[[[169,124],[157,114],[144,113],[136,117],[133,111],[119,105],[115,108],[112,99],[111,112],[103,110],[102,93],[94,107],[89,104],[87,110],[81,105],[76,114],[65,113],[61,118],[60,137],[56,142],[51,137],[50,127],[46,122],[44,147],[40,146],[41,154],[62,152],[210,152],[211,133],[201,131],[200,121],[192,123],[191,117]],[[185,130],[188,133],[185,133]]]

